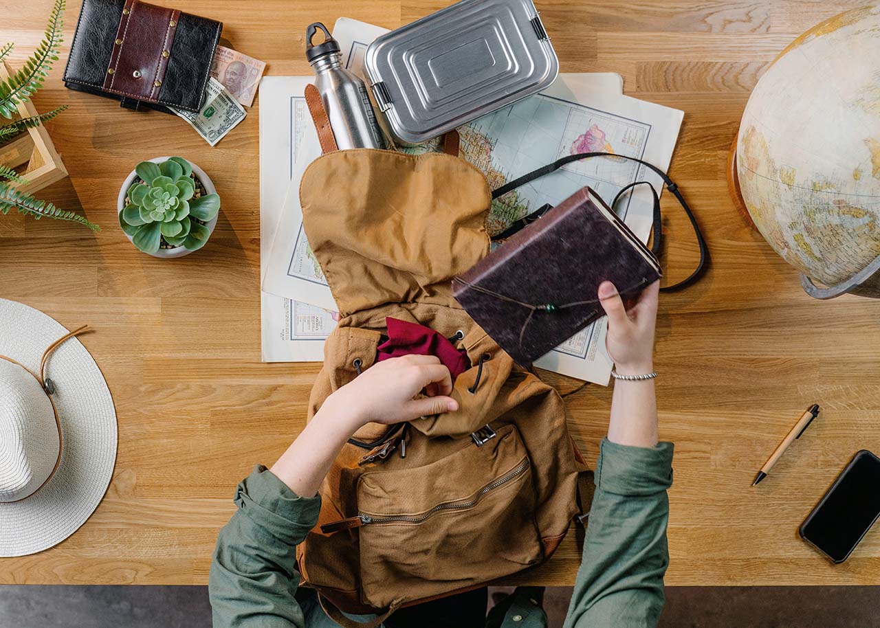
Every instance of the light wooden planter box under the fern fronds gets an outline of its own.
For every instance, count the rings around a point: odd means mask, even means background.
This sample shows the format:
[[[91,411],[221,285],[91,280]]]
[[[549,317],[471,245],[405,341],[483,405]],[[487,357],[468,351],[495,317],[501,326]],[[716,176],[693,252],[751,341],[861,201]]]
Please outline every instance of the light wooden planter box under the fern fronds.
[[[0,77],[9,77],[11,71],[5,61],[0,64]],[[18,114],[22,118],[27,118],[37,115],[37,110],[28,100],[18,103]],[[0,124],[4,121],[9,120],[0,118]],[[15,169],[26,164],[25,169],[19,173],[27,179],[27,185],[11,183],[12,187],[22,192],[36,192],[67,176],[67,169],[64,168],[61,157],[55,151],[46,127],[41,124],[39,127],[26,129],[26,133],[21,133],[11,142],[0,145],[0,164]]]

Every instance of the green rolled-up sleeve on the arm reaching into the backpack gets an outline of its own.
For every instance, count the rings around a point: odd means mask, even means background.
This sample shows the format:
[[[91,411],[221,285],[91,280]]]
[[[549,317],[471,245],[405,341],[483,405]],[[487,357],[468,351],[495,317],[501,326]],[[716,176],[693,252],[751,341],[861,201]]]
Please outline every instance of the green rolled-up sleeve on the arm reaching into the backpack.
[[[320,498],[298,497],[257,466],[238,485],[238,511],[217,537],[209,595],[214,628],[304,628],[294,595],[297,544],[318,522]]]

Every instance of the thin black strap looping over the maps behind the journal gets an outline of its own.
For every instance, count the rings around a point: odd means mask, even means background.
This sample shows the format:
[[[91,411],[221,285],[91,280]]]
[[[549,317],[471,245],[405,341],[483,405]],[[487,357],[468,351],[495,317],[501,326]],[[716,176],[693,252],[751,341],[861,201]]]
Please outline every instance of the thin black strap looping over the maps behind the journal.
[[[697,224],[697,219],[693,215],[693,211],[688,206],[687,201],[681,195],[681,192],[678,190],[678,186],[675,182],[669,178],[669,176],[656,167],[654,164],[649,164],[646,161],[642,161],[637,157],[627,157],[626,155],[614,155],[613,153],[607,152],[591,152],[591,153],[575,153],[574,155],[566,155],[565,157],[560,157],[552,164],[546,164],[538,168],[537,170],[533,170],[532,172],[526,172],[523,176],[517,177],[517,179],[513,179],[508,181],[503,186],[496,188],[492,192],[492,199],[495,200],[499,196],[503,194],[507,194],[511,190],[515,190],[519,186],[523,186],[534,179],[539,179],[539,177],[543,177],[545,174],[550,174],[551,172],[555,172],[559,170],[563,165],[571,164],[572,162],[576,162],[580,159],[586,159],[587,157],[616,157],[618,159],[627,159],[628,161],[634,161],[638,164],[642,164],[649,170],[656,172],[656,174],[663,179],[666,184],[666,189],[668,189],[673,196],[678,200],[678,204],[681,205],[681,208],[685,210],[687,215],[687,219],[691,222],[691,227],[693,227],[693,235],[697,238],[697,246],[700,248],[700,261],[697,262],[697,267],[693,269],[693,272],[689,274],[686,279],[682,281],[678,281],[678,283],[671,284],[670,286],[664,286],[664,288],[660,288],[664,292],[672,292],[675,290],[680,290],[682,288],[687,288],[694,281],[700,279],[700,275],[702,275],[706,270],[706,265],[708,264],[709,252],[708,246],[706,245],[706,240],[703,239],[703,234],[700,232],[700,225]],[[647,185],[651,190],[651,194],[654,195],[654,243],[651,245],[651,251],[657,254],[660,251],[660,243],[663,240],[663,223],[661,221],[660,215],[660,197],[657,195],[654,186],[650,185],[648,181],[636,181],[634,183],[630,183],[626,187],[622,188],[617,196],[614,197],[614,200],[611,203],[611,207],[613,208],[617,205],[617,201],[620,200],[620,196],[627,192],[628,190],[634,188],[635,186]],[[529,221],[533,222],[533,221]],[[505,230],[502,234],[499,234],[503,237],[510,237],[516,231],[523,229],[529,222],[525,222],[524,220],[517,221],[514,226],[510,227],[510,229]]]

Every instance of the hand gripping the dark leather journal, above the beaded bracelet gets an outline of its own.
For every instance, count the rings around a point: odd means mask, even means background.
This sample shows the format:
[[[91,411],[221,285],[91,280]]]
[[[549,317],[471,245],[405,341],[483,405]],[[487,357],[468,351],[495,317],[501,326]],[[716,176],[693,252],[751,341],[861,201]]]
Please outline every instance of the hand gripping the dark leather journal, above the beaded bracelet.
[[[599,285],[599,303],[608,315],[605,347],[620,375],[642,375],[654,370],[654,326],[660,281],[642,291],[627,310],[611,281]]]

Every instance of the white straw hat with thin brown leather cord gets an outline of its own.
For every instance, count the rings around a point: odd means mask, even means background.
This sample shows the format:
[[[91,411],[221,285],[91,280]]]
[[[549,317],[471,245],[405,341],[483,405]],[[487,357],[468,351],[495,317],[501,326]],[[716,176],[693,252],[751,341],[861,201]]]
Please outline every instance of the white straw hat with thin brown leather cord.
[[[113,476],[116,411],[84,330],[0,299],[0,556],[70,537]]]

